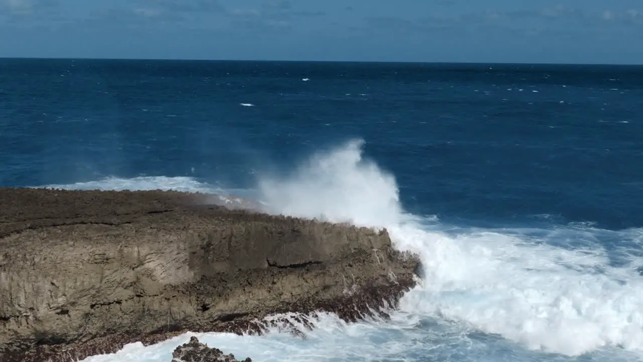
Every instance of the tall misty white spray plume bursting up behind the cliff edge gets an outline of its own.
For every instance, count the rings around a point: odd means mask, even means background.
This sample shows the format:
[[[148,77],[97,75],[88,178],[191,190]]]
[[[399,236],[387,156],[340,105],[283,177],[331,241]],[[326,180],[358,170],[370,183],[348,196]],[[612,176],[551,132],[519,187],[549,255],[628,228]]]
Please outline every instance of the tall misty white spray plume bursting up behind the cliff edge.
[[[273,213],[384,226],[401,215],[395,178],[361,155],[361,140],[317,153],[285,177],[263,176],[262,201]]]

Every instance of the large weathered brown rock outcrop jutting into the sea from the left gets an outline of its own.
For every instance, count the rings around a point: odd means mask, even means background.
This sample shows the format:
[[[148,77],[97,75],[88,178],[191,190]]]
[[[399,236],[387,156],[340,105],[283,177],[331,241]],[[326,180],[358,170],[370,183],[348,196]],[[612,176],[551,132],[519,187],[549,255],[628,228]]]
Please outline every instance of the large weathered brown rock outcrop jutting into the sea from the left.
[[[174,191],[0,189],[0,361],[70,361],[187,330],[353,321],[413,286],[386,231],[204,204]]]

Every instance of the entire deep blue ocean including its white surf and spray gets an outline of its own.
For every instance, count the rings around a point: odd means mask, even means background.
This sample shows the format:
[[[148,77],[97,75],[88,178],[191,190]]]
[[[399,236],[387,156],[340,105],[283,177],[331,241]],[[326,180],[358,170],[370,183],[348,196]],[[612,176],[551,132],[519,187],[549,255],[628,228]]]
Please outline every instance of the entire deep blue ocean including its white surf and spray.
[[[195,334],[237,357],[643,359],[642,66],[0,59],[0,186],[239,195],[421,255],[390,320]]]

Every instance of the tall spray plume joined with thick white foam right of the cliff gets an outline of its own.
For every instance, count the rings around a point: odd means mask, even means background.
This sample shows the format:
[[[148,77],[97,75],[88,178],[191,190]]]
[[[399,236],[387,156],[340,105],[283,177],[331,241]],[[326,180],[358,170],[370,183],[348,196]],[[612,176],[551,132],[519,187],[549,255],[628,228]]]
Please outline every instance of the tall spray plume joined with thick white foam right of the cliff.
[[[407,312],[570,356],[606,346],[643,350],[643,280],[633,265],[610,267],[597,242],[568,250],[516,231],[448,235],[404,223],[394,178],[364,160],[361,146],[314,155],[293,175],[264,180],[262,195],[294,216],[388,227],[397,247],[419,252],[426,286],[409,297]]]

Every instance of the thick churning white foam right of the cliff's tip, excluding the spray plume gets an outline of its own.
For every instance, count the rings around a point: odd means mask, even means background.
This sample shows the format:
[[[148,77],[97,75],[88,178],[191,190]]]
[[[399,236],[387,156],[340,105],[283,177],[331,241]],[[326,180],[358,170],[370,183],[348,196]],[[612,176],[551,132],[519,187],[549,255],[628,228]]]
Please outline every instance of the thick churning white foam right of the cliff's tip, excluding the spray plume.
[[[426,271],[406,310],[569,356],[643,350],[640,260],[610,267],[598,245],[567,250],[496,232],[448,236],[406,226],[391,233],[400,247],[421,252]]]

